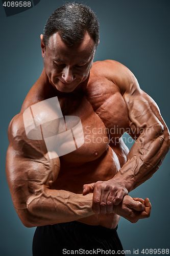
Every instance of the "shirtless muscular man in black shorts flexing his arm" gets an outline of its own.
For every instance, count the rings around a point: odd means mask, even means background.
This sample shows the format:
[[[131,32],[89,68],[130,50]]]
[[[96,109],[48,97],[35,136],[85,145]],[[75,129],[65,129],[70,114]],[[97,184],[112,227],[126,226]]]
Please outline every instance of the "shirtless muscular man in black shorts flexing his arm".
[[[119,216],[131,222],[150,216],[149,199],[128,193],[158,169],[169,133],[156,103],[125,66],[93,63],[98,44],[99,23],[90,8],[75,3],[58,8],[41,35],[42,74],[9,125],[7,179],[20,220],[38,226],[33,255],[56,255],[63,248],[122,251]],[[73,131],[67,116],[80,118],[84,134],[80,147],[59,157],[48,148],[42,125],[42,139],[29,137],[28,113],[34,124],[58,115],[53,104],[48,108],[51,98],[63,115],[62,127],[60,116],[49,121],[53,134],[61,135],[64,125]],[[130,152],[121,138],[125,131],[136,140]],[[65,141],[64,150],[67,136]]]

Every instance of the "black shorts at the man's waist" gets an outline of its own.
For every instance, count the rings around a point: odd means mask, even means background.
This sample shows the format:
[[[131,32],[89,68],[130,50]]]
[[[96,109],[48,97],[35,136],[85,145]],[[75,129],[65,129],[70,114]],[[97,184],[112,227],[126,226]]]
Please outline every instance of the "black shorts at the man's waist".
[[[117,251],[119,255],[124,255],[116,230],[117,227],[108,229],[77,221],[37,227],[33,239],[33,256],[113,255]],[[105,252],[102,253],[102,250]]]

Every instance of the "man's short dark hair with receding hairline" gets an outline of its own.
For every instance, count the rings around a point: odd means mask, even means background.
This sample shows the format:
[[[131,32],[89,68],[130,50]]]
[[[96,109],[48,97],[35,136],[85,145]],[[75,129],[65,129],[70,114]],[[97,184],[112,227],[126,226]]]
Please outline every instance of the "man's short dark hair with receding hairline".
[[[45,47],[57,31],[69,45],[81,42],[86,31],[94,40],[95,48],[99,43],[99,20],[91,8],[84,4],[67,2],[50,15],[43,32]]]

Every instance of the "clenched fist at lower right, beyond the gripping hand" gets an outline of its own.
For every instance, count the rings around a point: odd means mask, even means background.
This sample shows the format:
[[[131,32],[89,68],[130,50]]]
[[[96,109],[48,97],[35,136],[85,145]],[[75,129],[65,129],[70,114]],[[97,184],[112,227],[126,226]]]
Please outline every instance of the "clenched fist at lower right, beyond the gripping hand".
[[[151,213],[151,203],[148,198],[131,198],[125,196],[123,201],[114,206],[114,213],[124,217],[132,223],[136,223],[139,219],[149,218]]]

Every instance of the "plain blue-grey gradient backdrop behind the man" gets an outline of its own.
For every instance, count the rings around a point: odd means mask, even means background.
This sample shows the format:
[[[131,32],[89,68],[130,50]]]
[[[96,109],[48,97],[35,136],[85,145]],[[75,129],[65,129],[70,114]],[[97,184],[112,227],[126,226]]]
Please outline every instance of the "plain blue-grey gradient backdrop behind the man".
[[[1,248],[3,256],[32,255],[35,228],[26,228],[12,204],[6,176],[7,129],[43,68],[40,34],[46,19],[64,2],[41,0],[34,8],[1,18]],[[100,19],[100,45],[95,60],[115,59],[137,77],[142,90],[169,120],[169,10],[168,0],[87,0]],[[131,145],[130,145],[131,146]],[[125,250],[169,248],[169,154],[154,176],[131,192],[149,197],[149,219],[132,224],[121,218],[118,234]],[[57,248],[56,248],[57,249]],[[57,255],[57,253],[56,253]]]

